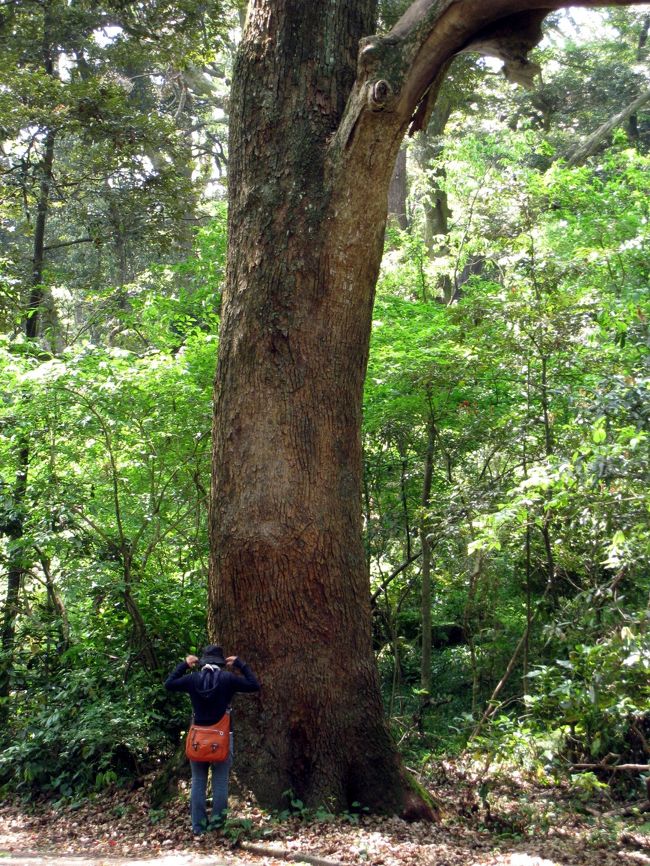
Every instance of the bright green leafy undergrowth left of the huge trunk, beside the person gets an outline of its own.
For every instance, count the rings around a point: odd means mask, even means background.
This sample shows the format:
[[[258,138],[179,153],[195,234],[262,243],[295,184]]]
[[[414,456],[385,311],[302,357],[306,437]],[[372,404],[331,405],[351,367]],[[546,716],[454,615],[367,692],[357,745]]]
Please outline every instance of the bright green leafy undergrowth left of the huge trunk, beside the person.
[[[149,351],[85,342],[50,357],[21,340],[0,346],[0,514],[3,525],[20,516],[22,529],[3,556],[12,545],[33,563],[2,732],[0,777],[17,790],[70,796],[137,776],[185,725],[162,677],[206,634],[224,231],[217,220],[205,230],[214,246],[201,241],[205,290],[179,290],[171,305],[171,292],[157,296],[143,278],[142,304],[123,321]],[[190,270],[179,270],[182,286]],[[27,485],[16,502],[22,448]]]

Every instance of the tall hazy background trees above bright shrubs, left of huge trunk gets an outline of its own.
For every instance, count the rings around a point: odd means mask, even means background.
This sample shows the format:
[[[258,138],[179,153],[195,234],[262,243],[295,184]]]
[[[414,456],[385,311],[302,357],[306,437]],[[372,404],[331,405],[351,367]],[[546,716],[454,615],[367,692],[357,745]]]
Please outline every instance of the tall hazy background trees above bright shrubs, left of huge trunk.
[[[114,328],[107,308],[119,315],[127,306],[125,286],[138,270],[187,252],[211,152],[220,158],[214,123],[207,127],[228,23],[219,0],[156,0],[137,11],[110,0],[3,4],[0,312],[8,328],[13,320],[54,352],[79,332],[96,338],[93,290],[109,295],[97,319]],[[60,291],[53,297],[62,285],[72,313]]]

